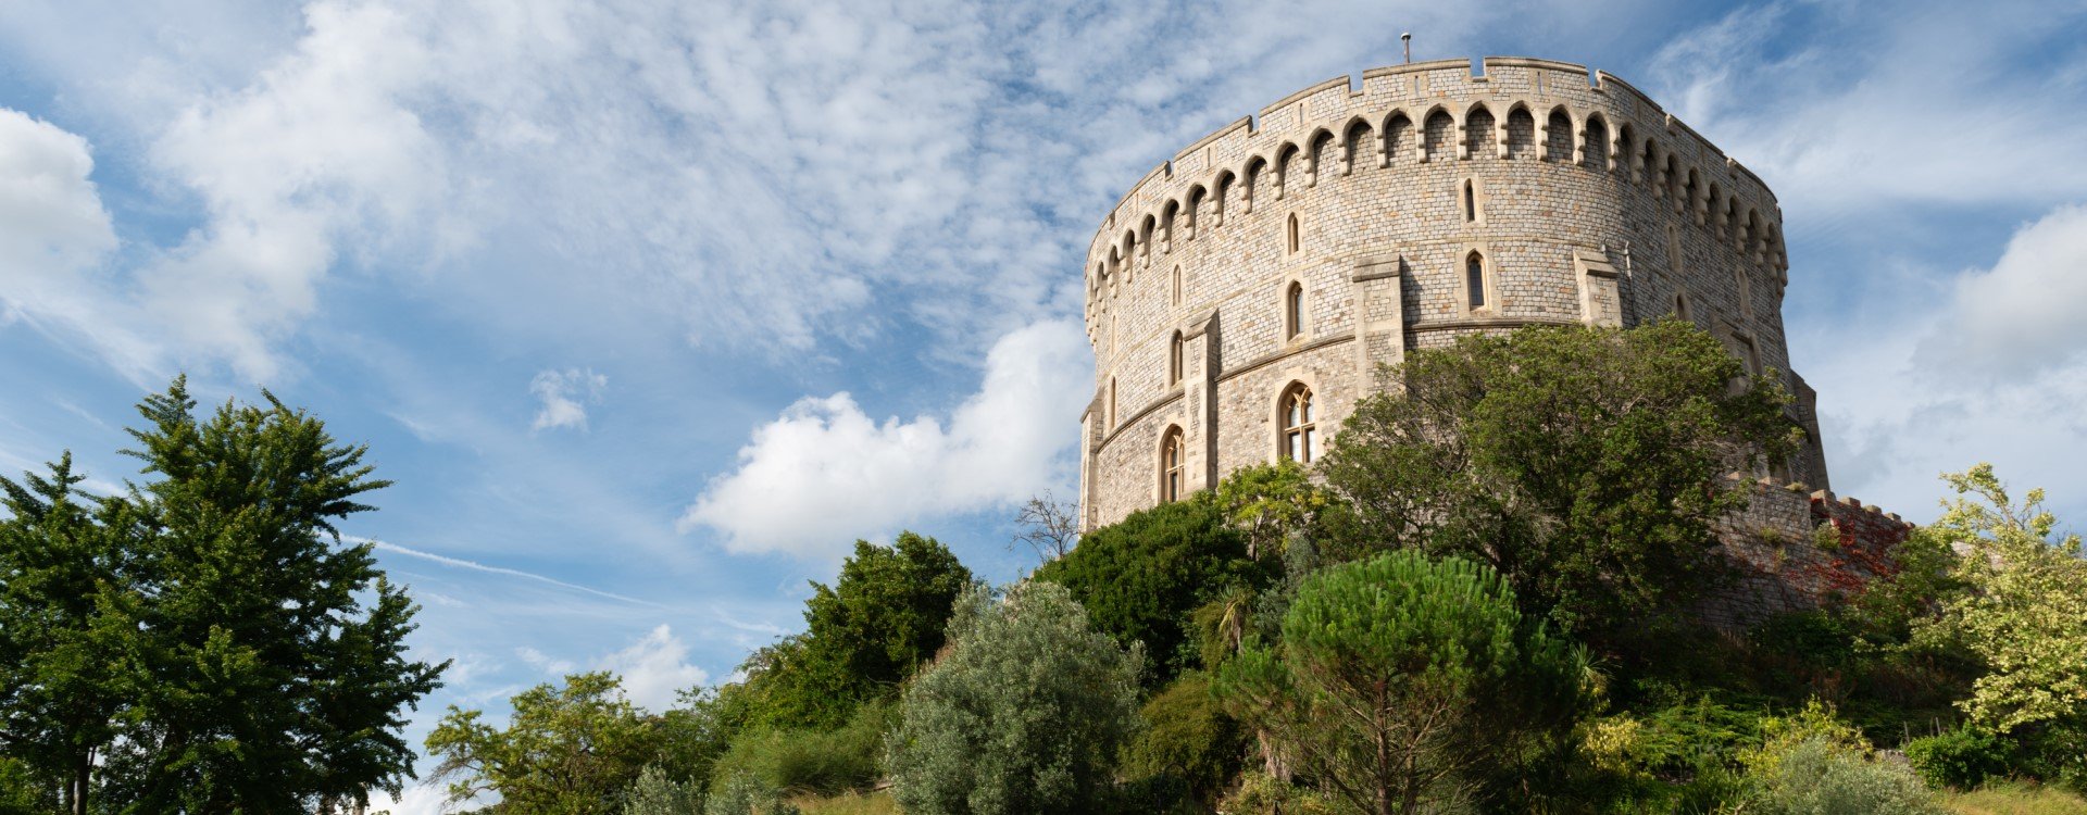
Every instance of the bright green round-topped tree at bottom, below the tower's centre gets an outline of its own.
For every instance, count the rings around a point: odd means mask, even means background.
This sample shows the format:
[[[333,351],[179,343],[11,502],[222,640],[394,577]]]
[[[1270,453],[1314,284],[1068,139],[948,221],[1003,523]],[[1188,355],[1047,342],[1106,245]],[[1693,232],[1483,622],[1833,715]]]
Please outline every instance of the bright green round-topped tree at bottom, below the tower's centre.
[[[1569,730],[1584,671],[1490,567],[1398,550],[1309,577],[1281,642],[1250,642],[1217,692],[1350,811],[1390,815],[1476,794]]]

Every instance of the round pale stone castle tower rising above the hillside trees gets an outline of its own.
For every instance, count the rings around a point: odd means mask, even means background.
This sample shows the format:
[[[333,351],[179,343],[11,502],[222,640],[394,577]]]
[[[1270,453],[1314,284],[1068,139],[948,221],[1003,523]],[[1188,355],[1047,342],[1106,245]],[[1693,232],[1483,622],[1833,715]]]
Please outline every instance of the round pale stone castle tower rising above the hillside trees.
[[[1824,492],[1786,283],[1768,186],[1613,75],[1488,56],[1304,88],[1160,163],[1102,221],[1085,263],[1081,523],[1238,467],[1315,461],[1407,348],[1678,315],[1797,394],[1807,442],[1726,536],[1764,590],[1789,594],[1789,554],[1764,542],[1820,521],[1882,540],[1903,523]],[[1795,592],[1832,582],[1814,577]]]

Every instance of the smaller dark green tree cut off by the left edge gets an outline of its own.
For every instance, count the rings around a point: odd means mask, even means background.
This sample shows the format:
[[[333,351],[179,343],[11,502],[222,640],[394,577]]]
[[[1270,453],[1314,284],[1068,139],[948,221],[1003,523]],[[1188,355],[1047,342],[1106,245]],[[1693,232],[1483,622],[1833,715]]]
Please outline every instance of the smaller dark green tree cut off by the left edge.
[[[88,813],[96,752],[125,709],[129,625],[127,559],[94,509],[79,500],[73,456],[50,475],[0,477],[0,744],[25,777],[58,780],[69,813]],[[102,515],[121,515],[104,504]]]

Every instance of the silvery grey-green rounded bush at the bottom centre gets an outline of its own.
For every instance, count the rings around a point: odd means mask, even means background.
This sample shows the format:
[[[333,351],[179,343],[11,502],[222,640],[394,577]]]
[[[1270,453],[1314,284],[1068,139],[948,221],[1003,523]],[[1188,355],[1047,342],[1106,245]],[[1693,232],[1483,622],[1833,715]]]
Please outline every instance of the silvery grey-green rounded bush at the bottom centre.
[[[1056,584],[1002,600],[973,588],[950,617],[950,650],[906,686],[887,736],[893,794],[914,815],[1092,813],[1135,736],[1135,644],[1087,625]]]

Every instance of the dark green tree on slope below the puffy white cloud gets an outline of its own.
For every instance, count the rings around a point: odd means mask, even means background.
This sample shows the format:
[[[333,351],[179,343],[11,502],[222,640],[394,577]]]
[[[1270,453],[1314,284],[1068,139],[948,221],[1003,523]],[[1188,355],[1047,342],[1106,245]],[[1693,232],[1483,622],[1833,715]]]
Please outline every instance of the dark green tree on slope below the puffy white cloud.
[[[749,675],[758,721],[839,727],[856,705],[889,696],[941,648],[950,604],[970,579],[933,538],[904,532],[889,548],[858,540],[833,588],[812,584],[806,634]]]

